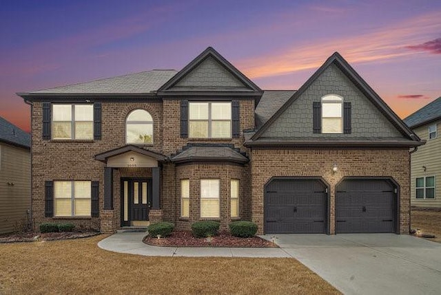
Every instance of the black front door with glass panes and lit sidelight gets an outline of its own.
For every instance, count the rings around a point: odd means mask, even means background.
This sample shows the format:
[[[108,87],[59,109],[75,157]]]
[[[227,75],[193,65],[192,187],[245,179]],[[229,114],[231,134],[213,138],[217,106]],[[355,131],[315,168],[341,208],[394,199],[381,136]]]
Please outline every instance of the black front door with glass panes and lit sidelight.
[[[148,221],[152,205],[152,179],[121,179],[121,226]]]

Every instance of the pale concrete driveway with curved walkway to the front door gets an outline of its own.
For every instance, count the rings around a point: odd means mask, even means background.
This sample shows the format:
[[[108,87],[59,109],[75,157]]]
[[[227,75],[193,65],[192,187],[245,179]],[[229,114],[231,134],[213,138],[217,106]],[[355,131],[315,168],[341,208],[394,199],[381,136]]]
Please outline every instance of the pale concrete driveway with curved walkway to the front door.
[[[98,245],[147,256],[292,257],[344,294],[441,294],[441,243],[407,235],[277,234],[280,248],[156,247],[144,236],[118,233]]]

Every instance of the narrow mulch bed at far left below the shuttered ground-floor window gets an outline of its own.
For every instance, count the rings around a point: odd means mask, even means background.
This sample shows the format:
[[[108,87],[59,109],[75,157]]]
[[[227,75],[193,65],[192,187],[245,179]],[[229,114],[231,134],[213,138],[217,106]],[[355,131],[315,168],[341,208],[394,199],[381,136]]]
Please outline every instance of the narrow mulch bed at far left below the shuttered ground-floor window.
[[[24,232],[21,234],[10,234],[0,237],[0,243],[17,243],[17,242],[33,242],[33,241],[54,241],[67,239],[80,239],[93,237],[100,232]]]

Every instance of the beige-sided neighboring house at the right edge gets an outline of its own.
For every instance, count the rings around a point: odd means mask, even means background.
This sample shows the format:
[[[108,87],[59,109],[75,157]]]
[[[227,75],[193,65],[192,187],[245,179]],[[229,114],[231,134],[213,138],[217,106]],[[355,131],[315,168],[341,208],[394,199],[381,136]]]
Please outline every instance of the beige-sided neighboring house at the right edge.
[[[411,154],[411,205],[441,208],[441,97],[404,122],[426,140],[424,146]]]

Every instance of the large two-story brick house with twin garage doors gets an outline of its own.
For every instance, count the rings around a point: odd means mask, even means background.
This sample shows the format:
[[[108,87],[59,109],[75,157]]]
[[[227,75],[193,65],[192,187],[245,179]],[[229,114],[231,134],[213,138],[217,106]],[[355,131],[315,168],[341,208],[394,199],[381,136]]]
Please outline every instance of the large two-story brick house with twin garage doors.
[[[37,223],[409,233],[409,148],[422,142],[338,53],[298,91],[263,91],[209,47],[180,72],[19,96]]]

